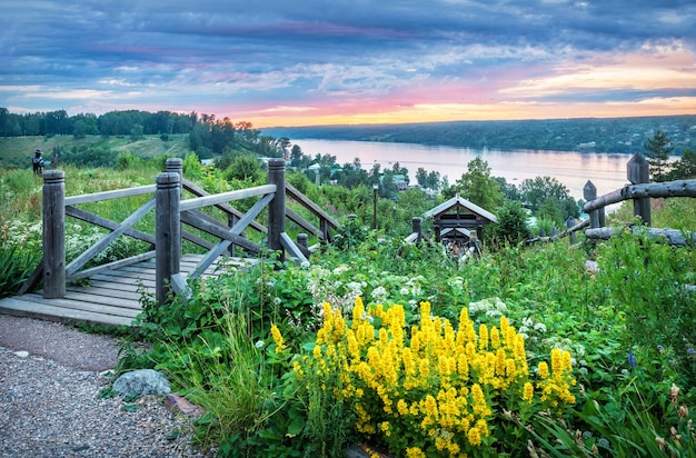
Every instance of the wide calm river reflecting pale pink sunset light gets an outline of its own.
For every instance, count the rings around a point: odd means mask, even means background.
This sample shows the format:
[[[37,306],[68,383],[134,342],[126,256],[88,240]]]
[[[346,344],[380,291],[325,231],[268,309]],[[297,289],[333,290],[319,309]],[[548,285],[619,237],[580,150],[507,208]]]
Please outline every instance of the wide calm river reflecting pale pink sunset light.
[[[509,183],[519,185],[524,179],[553,177],[564,183],[570,195],[583,199],[587,180],[597,188],[597,195],[614,191],[628,183],[626,163],[629,155],[607,155],[576,151],[536,150],[477,150],[424,146],[412,143],[382,143],[374,141],[294,140],[302,152],[315,157],[318,153],[336,156],[339,165],[360,159],[364,169],[375,163],[391,168],[395,162],[408,169],[411,183],[416,182],[416,170],[438,171],[450,185],[467,172],[467,163],[480,157],[490,167],[494,177],[503,177]]]

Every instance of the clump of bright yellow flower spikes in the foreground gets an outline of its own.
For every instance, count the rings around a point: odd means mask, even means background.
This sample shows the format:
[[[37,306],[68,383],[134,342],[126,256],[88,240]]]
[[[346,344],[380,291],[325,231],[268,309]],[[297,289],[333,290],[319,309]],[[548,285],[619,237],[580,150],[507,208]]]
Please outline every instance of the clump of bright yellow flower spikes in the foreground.
[[[553,350],[550,370],[541,361],[530,374],[524,338],[505,317],[476,331],[463,309],[455,329],[422,302],[409,331],[406,315],[400,306],[366,311],[358,299],[348,325],[326,303],[311,355],[295,362],[300,382],[318,376],[310,397],[348,402],[357,432],[397,456],[515,451],[535,416],[575,402],[570,355]]]

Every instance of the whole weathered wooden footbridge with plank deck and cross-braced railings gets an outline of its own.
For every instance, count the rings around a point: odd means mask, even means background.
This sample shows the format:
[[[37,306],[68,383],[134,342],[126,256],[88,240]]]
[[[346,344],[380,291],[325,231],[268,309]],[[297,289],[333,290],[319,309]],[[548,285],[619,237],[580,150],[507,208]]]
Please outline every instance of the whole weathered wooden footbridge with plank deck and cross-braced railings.
[[[308,262],[307,258],[314,250],[321,243],[330,242],[331,230],[339,228],[336,220],[285,181],[282,159],[269,161],[268,185],[213,196],[185,180],[181,166],[181,159],[169,159],[167,171],[157,176],[155,186],[73,197],[64,197],[62,171],[46,171],[43,259],[18,296],[0,300],[0,312],[59,321],[131,326],[142,310],[143,295],[155,297],[158,305],[166,306],[171,295],[189,293],[190,281],[229,269],[248,269],[261,261],[264,256],[281,261],[287,256],[296,262]],[[182,199],[183,191],[193,198]],[[122,222],[77,208],[82,203],[148,193],[155,193],[155,197]],[[317,217],[319,225],[312,225],[287,208],[286,196]],[[258,200],[246,212],[229,205],[250,198]],[[211,217],[210,211],[201,211],[205,207],[217,208],[227,217],[227,223]],[[267,226],[256,220],[265,209]],[[155,233],[135,229],[133,226],[151,210],[155,210]],[[109,231],[69,265],[66,265],[66,216]],[[307,233],[300,233],[298,240],[292,241],[285,230],[286,219],[309,232],[318,243],[309,247]],[[185,225],[195,228],[198,233],[185,231]],[[262,240],[255,242],[247,238],[245,231],[250,230],[261,235]],[[127,259],[84,268],[120,236],[141,240],[150,248]],[[211,238],[218,241],[211,242]],[[183,255],[182,240],[202,247],[207,252]],[[255,257],[235,256],[235,250],[239,248]],[[34,291],[41,282],[42,289]]]

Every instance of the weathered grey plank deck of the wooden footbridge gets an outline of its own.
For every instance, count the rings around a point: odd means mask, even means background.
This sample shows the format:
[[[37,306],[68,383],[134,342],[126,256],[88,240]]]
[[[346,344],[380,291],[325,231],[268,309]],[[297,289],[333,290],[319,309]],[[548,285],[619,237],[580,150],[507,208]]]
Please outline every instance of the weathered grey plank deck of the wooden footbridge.
[[[202,258],[185,255],[181,272],[189,273]],[[243,268],[258,261],[248,258],[221,258],[225,266]],[[203,277],[215,276],[217,262]],[[90,277],[86,287],[67,287],[61,299],[43,299],[42,291],[0,299],[0,313],[40,318],[61,322],[132,326],[142,311],[142,292],[155,297],[155,259],[148,259]]]

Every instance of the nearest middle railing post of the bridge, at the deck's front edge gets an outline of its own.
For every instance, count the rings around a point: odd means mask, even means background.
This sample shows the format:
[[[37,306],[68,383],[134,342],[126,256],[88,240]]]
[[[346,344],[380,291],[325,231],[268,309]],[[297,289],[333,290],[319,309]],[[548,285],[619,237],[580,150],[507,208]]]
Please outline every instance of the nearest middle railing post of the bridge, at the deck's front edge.
[[[179,273],[181,261],[181,216],[179,215],[180,177],[176,172],[157,176],[155,300],[167,302],[171,276]]]

